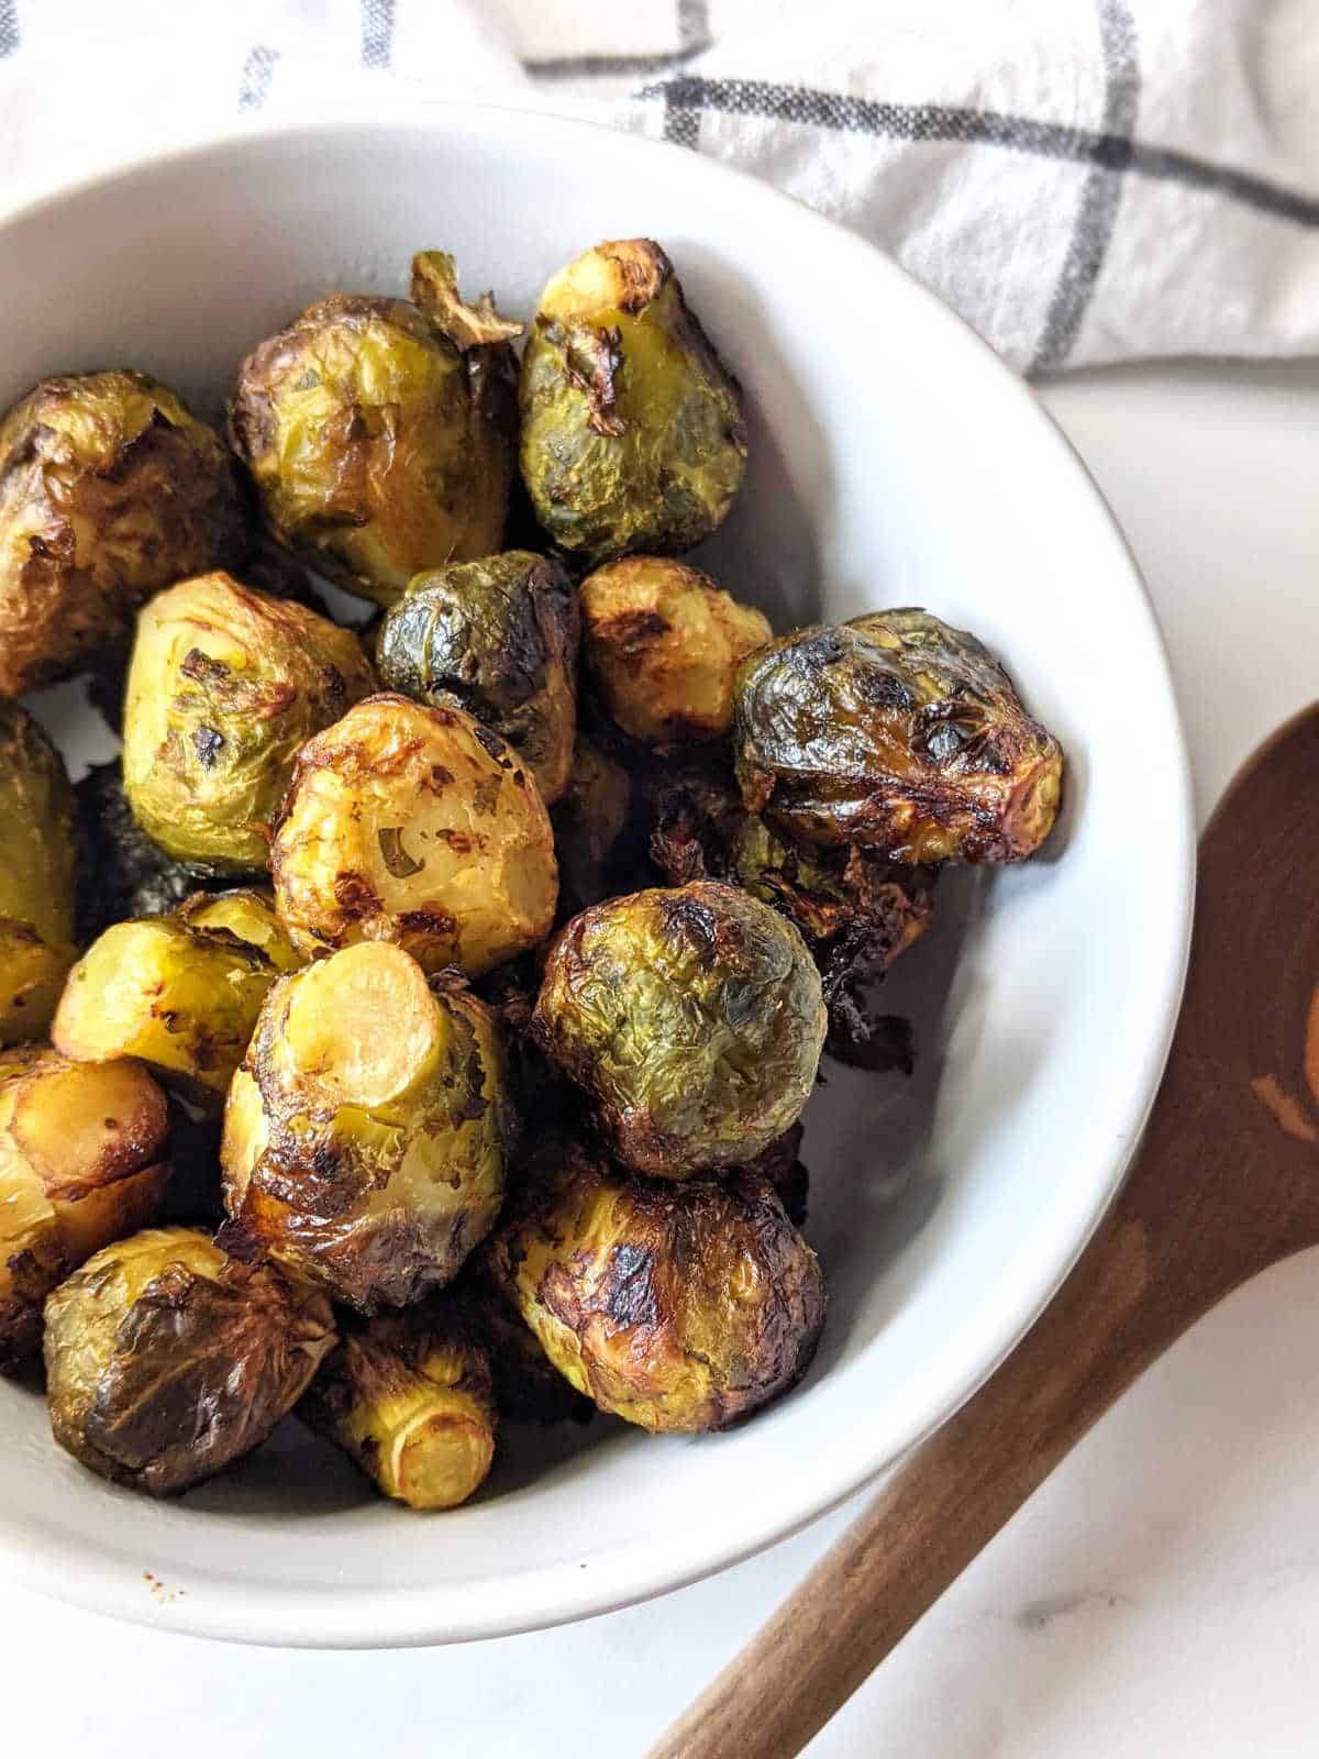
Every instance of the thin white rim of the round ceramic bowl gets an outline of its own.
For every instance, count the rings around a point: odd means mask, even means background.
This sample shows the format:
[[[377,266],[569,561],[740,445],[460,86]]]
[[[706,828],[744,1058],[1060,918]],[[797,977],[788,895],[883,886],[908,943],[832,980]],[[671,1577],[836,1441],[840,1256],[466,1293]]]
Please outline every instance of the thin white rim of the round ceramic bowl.
[[[1168,772],[1161,781],[1161,797],[1168,807],[1166,839],[1161,862],[1155,864],[1155,878],[1162,881],[1161,911],[1168,932],[1161,941],[1159,969],[1148,974],[1148,1015],[1154,1029],[1138,1062],[1133,1061],[1126,1110],[1113,1119],[1106,1177],[1087,1184],[1082,1193],[1066,1251],[1050,1256],[1046,1266],[1036,1266],[1032,1279],[1025,1279],[1022,1266],[1017,1266],[1015,1298],[999,1302],[999,1314],[1011,1310],[1011,1321],[990,1328],[980,1340],[969,1340],[966,1353],[958,1356],[957,1372],[948,1372],[941,1379],[925,1376],[929,1384],[923,1397],[911,1402],[904,1439],[890,1444],[890,1439],[876,1437],[860,1427],[853,1435],[839,1435],[837,1446],[816,1455],[811,1474],[795,1479],[790,1500],[783,1499],[783,1486],[776,1486],[774,1497],[747,1497],[740,1509],[726,1511],[728,1520],[719,1543],[712,1544],[709,1529],[700,1529],[698,1543],[688,1550],[677,1543],[665,1546],[635,1543],[593,1557],[589,1567],[542,1566],[519,1574],[505,1585],[503,1594],[475,1595],[468,1585],[464,1594],[470,1602],[461,1611],[455,1611],[452,1602],[448,1611],[441,1608],[441,1581],[426,1588],[338,1592],[318,1587],[253,1585],[209,1574],[204,1592],[174,1601],[132,1594],[125,1583],[123,1566],[114,1557],[88,1553],[83,1544],[70,1543],[51,1529],[37,1544],[30,1529],[9,1525],[0,1511],[0,1564],[9,1580],[25,1588],[181,1634],[304,1648],[394,1648],[512,1636],[654,1599],[790,1537],[872,1483],[888,1465],[939,1428],[994,1374],[1048,1305],[1126,1179],[1159,1089],[1180,1010],[1196,871],[1191,763],[1166,644],[1131,547],[1080,454],[1027,382],[1013,373],[937,294],[860,234],[754,174],[693,153],[689,148],[630,134],[582,114],[554,114],[529,106],[492,102],[364,97],[324,109],[290,107],[278,114],[236,118],[220,127],[178,130],[151,150],[123,155],[90,176],[30,176],[12,186],[0,202],[0,245],[12,225],[37,218],[70,197],[95,197],[100,190],[162,165],[186,165],[190,160],[223,155],[253,142],[290,137],[302,137],[311,146],[329,135],[361,130],[376,134],[420,130],[440,137],[457,135],[464,141],[487,139],[501,144],[521,135],[533,150],[547,135],[563,141],[586,137],[586,144],[591,146],[600,134],[607,134],[610,155],[624,169],[638,157],[652,165],[660,155],[667,160],[672,181],[695,179],[703,186],[705,197],[725,190],[742,211],[763,215],[765,236],[776,236],[776,223],[788,218],[784,208],[791,209],[791,225],[821,237],[832,253],[849,257],[855,273],[883,276],[890,285],[899,285],[902,299],[927,325],[927,332],[936,341],[943,334],[948,348],[960,350],[966,369],[973,376],[978,375],[980,382],[995,387],[995,406],[1004,415],[1013,415],[1018,429],[1036,449],[1053,450],[1064,470],[1071,471],[1078,489],[1089,489],[1089,500],[1099,515],[1090,540],[1097,542],[1099,533],[1106,533],[1108,554],[1103,566],[1111,573],[1115,591],[1122,580],[1126,582],[1131,612],[1145,619],[1150,670],[1161,691],[1157,700],[1141,704],[1141,725],[1150,735],[1150,749],[1161,753]],[[1155,895],[1159,894],[1152,890],[1150,897]]]

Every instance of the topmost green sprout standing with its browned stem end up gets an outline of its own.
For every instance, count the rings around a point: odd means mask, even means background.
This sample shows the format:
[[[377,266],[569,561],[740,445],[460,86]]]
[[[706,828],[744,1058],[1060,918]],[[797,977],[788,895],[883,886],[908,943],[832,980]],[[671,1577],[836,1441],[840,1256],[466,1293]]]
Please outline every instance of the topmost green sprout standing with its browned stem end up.
[[[742,392],[651,239],[596,245],[550,280],[519,396],[536,519],[586,563],[693,549],[733,505]]]

